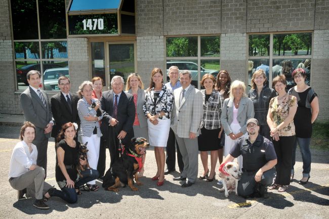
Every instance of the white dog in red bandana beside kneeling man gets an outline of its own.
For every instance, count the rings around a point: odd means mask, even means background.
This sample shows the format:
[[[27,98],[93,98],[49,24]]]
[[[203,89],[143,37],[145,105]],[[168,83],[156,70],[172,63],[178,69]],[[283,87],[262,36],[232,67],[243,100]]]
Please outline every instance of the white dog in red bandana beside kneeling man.
[[[237,183],[242,176],[239,164],[236,162],[227,162],[223,169],[229,174],[229,176],[226,176],[222,172],[219,173],[219,177],[222,178],[223,182],[223,188],[221,188],[219,191],[225,191],[226,198],[228,197],[228,192],[232,192],[234,190],[235,195],[237,195]]]

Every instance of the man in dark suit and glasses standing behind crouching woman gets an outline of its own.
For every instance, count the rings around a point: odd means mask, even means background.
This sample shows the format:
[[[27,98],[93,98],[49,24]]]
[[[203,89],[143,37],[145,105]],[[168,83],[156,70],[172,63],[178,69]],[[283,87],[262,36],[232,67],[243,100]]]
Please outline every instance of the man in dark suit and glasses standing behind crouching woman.
[[[58,87],[61,92],[50,99],[55,119],[55,125],[52,131],[52,137],[55,138],[55,145],[57,144],[57,136],[63,124],[67,122],[75,122],[80,127],[80,119],[77,114],[77,102],[79,97],[70,93],[70,79],[66,76],[60,76],[58,78]],[[77,141],[77,135],[74,140]]]

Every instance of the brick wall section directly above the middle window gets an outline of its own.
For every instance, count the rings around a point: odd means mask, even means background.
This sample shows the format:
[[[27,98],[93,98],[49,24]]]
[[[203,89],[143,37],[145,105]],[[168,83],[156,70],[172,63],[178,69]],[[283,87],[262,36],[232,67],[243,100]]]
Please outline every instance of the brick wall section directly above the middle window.
[[[221,1],[163,0],[164,35],[220,33]]]

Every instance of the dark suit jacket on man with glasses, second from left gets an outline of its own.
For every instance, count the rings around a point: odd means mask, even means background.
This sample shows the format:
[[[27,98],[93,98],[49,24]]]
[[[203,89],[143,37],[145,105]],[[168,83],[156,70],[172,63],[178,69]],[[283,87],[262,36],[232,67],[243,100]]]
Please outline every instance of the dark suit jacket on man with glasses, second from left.
[[[75,122],[80,127],[80,119],[77,113],[77,102],[79,100],[79,97],[72,93],[70,93],[69,95],[72,102],[72,113],[69,110],[66,97],[64,97],[62,92],[59,92],[50,99],[52,113],[55,119],[55,125],[52,130],[52,137],[54,138],[56,138],[59,134],[62,125],[67,122]]]

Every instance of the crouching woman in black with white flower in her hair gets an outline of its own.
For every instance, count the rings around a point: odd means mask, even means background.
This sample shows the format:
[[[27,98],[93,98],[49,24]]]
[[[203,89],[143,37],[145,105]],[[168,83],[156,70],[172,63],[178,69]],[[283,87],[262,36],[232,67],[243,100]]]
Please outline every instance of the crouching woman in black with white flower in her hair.
[[[57,196],[69,203],[77,201],[77,195],[81,192],[78,188],[89,181],[98,178],[99,173],[96,169],[86,169],[81,171],[80,177],[76,170],[76,165],[86,165],[87,160],[78,159],[79,142],[74,141],[77,124],[67,122],[62,126],[62,130],[57,138],[56,145],[56,182],[61,190],[53,189],[49,192],[51,196]],[[44,197],[48,200],[48,197]]]

